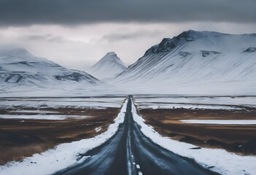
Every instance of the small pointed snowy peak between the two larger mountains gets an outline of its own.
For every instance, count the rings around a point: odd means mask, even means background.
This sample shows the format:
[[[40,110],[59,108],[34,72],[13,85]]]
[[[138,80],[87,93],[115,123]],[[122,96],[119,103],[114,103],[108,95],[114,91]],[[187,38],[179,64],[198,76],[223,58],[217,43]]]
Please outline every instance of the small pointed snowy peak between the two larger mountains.
[[[104,58],[94,64],[88,70],[89,74],[102,80],[113,79],[127,68],[115,52],[108,52]]]

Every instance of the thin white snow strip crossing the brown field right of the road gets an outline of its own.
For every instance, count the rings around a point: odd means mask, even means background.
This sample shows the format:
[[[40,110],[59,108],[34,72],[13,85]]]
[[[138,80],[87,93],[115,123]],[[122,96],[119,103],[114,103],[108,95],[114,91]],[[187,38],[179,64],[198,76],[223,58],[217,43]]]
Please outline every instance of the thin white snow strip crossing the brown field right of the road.
[[[256,125],[256,120],[179,120],[182,123],[217,125]]]

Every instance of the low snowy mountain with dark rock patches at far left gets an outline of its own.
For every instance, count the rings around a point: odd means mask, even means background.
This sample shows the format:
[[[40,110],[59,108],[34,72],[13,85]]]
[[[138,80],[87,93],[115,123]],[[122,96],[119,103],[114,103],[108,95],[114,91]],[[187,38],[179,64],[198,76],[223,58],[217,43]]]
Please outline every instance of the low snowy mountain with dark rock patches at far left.
[[[100,82],[84,71],[66,69],[53,61],[31,55],[23,48],[0,52],[0,83],[4,85],[66,85],[82,82],[96,85]]]

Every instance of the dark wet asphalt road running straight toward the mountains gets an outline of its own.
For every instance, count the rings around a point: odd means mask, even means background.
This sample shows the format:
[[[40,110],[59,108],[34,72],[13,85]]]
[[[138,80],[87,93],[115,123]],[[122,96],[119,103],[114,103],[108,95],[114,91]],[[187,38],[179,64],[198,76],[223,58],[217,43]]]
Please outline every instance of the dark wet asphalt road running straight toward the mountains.
[[[131,101],[132,97],[128,96],[124,123],[112,138],[81,155],[89,156],[82,163],[56,174],[216,174],[144,136],[140,126],[133,121]]]

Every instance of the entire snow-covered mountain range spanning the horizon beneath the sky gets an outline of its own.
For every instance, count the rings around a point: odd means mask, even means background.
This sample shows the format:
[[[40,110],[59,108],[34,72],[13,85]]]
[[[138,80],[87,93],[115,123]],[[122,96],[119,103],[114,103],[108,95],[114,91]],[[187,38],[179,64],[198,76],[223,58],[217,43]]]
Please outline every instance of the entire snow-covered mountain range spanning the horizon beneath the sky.
[[[127,69],[115,52],[109,52],[88,72],[108,84],[24,49],[0,52],[0,92],[4,93],[26,85],[72,93],[82,90],[79,96],[102,90],[104,94],[256,95],[256,34],[184,31],[163,39]]]

